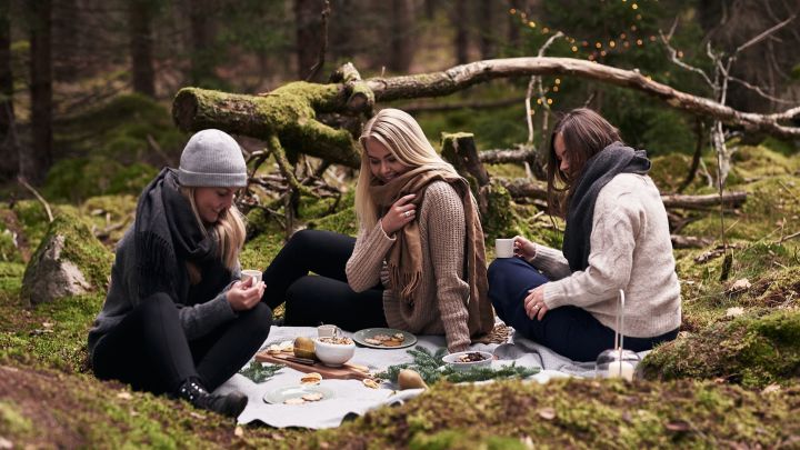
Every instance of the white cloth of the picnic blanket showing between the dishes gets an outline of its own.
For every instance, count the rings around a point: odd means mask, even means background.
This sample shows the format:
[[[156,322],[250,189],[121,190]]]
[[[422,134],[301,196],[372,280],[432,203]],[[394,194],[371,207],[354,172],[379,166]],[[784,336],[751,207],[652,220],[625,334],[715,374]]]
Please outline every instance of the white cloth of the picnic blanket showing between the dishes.
[[[351,336],[348,332],[344,334]],[[317,329],[312,327],[272,327],[263,347],[293,340],[299,336],[316,337]],[[417,339],[417,343],[411,348],[421,346],[434,352],[437,349],[446,347],[444,338],[440,336],[418,336]],[[383,350],[358,347],[356,356],[350,362],[368,366],[372,372],[384,371],[389,366],[411,362],[413,358],[408,353],[409,349]],[[513,334],[509,337],[507,343],[478,343],[471,346],[470,349],[494,353],[498,357],[492,361],[494,368],[511,362],[517,366],[540,368],[542,370],[530,379],[542,383],[558,377],[594,376],[593,362],[570,361],[547,347],[527,339],[514,339]],[[642,357],[643,354],[644,352],[640,353]],[[299,386],[302,376],[302,372],[287,367],[267,381],[254,383],[237,373],[214,392],[227,393],[238,390],[248,396],[249,402],[238,418],[239,423],[258,420],[276,428],[302,427],[310,429],[339,427],[348,418],[361,416],[383,404],[402,403],[422,392],[421,389],[396,391],[397,387],[391,383],[383,383],[380,389],[370,389],[358,380],[322,380],[319,386],[333,391],[333,398],[303,404],[272,404],[263,400],[267,393],[284,387]]]

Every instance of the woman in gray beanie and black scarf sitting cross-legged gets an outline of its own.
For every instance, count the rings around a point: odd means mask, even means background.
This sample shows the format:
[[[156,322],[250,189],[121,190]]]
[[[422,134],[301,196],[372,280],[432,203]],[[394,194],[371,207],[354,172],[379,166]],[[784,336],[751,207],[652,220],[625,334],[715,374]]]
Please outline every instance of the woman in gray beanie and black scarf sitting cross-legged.
[[[213,391],[269,334],[263,282],[239,281],[247,186],[237,142],[220,130],[191,137],[178,170],[144,188],[117,247],[111,283],[89,331],[94,374],[238,417],[247,397]]]

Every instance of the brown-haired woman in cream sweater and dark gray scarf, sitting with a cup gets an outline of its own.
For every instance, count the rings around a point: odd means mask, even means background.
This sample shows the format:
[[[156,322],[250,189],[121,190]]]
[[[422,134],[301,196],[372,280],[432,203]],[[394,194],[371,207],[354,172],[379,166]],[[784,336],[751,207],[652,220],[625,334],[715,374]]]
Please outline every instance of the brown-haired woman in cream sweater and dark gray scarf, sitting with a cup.
[[[624,346],[672,340],[681,321],[667,211],[650,160],[597,112],[563,114],[550,139],[548,193],[566,217],[562,250],[514,239],[517,258],[489,267],[489,297],[522,336],[578,361],[613,347],[619,290]]]

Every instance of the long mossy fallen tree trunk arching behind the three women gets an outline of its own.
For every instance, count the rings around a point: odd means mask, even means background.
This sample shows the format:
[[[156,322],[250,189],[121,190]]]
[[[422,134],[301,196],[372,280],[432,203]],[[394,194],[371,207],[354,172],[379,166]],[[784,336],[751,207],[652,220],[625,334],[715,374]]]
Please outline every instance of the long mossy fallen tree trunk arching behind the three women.
[[[290,153],[306,152],[330,162],[358,166],[354,141],[318,121],[324,112],[358,114],[377,101],[448,96],[501,78],[577,76],[654,96],[684,112],[720,120],[746,131],[789,139],[800,127],[781,124],[800,117],[800,107],[772,114],[738,111],[711,99],[678,91],[652,81],[637,70],[623,70],[572,58],[509,58],[456,66],[442,72],[361,80],[352,64],[344,64],[330,84],[288,83],[261,96],[182,89],[172,114],[184,131],[216,127],[231,133],[266,139],[277,133]]]

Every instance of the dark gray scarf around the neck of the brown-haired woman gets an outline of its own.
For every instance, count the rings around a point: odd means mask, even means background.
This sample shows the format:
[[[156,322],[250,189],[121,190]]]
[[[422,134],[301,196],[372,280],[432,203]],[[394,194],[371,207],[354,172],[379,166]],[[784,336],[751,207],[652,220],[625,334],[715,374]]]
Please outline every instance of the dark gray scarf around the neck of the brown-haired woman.
[[[620,173],[641,173],[650,170],[644,150],[633,150],[614,142],[587,161],[577,181],[567,211],[563,254],[573,272],[589,267],[594,203],[600,190]]]

